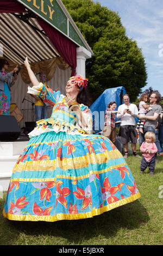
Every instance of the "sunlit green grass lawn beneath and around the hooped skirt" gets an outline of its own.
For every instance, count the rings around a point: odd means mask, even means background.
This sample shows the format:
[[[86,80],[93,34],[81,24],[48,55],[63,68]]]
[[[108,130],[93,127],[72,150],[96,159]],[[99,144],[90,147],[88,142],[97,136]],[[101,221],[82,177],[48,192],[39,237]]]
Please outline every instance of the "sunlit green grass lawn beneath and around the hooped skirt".
[[[133,156],[127,159],[140,199],[76,221],[19,222],[9,221],[1,214],[0,245],[163,245],[163,198],[159,198],[163,156],[159,156],[154,176],[148,170],[139,173],[140,161]],[[0,199],[0,212],[4,200]]]

